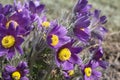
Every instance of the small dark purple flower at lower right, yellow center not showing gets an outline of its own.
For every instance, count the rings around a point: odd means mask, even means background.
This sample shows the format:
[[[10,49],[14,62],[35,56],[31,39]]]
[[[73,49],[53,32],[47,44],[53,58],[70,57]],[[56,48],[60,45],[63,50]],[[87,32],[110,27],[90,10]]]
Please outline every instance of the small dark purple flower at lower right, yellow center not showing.
[[[103,57],[102,47],[97,46],[96,48],[92,48],[92,52],[93,52],[93,57],[92,57],[91,61],[98,62],[99,66],[106,69],[108,66],[108,63],[106,61],[102,60],[102,57]]]

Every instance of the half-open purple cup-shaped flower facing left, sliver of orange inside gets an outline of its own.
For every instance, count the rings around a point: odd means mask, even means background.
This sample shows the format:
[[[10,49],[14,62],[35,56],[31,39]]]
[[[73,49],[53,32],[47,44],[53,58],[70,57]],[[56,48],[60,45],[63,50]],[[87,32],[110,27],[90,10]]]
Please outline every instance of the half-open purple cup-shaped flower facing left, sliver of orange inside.
[[[73,29],[75,36],[81,41],[88,41],[90,38],[90,30],[88,26],[90,25],[90,20],[88,16],[82,16],[75,22],[75,27]]]

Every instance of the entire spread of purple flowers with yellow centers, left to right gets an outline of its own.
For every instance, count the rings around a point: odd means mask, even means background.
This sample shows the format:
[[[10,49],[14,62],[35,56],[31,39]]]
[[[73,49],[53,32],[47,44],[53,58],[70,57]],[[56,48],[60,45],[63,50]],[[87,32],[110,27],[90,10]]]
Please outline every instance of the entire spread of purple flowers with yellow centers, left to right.
[[[107,30],[104,28],[106,16],[100,15],[100,10],[92,11],[92,6],[87,0],[78,0],[74,7],[72,18],[73,34],[69,35],[68,30],[55,21],[48,21],[44,16],[45,5],[28,1],[24,5],[14,2],[14,5],[0,4],[0,57],[11,60],[15,51],[21,55],[24,53],[20,47],[24,38],[37,28],[43,33],[42,38],[54,50],[54,57],[57,66],[62,69],[65,78],[69,79],[75,73],[75,66],[78,65],[83,73],[84,80],[98,80],[101,72],[96,68],[106,69],[108,63],[102,60],[102,41]],[[41,14],[43,16],[41,17]],[[71,32],[71,33],[72,33]],[[68,36],[69,35],[69,36]],[[91,44],[97,44],[91,47]],[[89,58],[86,63],[82,61],[79,53],[89,46]],[[17,67],[7,65],[4,67],[4,80],[28,80],[29,73],[26,62],[20,62]]]

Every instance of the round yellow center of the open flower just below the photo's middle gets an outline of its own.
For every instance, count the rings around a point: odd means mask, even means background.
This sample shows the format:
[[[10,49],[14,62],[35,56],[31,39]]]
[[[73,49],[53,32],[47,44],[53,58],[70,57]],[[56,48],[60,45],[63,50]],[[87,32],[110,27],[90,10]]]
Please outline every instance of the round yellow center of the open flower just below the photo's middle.
[[[69,60],[71,57],[71,52],[68,48],[64,48],[62,49],[59,54],[58,54],[58,58],[61,60],[61,61],[66,61],[66,60]]]

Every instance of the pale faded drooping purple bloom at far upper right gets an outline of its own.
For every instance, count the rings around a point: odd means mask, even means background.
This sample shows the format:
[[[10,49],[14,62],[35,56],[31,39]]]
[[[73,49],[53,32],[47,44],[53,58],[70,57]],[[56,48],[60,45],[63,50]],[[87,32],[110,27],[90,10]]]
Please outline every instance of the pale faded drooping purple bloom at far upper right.
[[[100,12],[100,10],[95,10],[93,13],[93,18],[91,20],[91,26],[93,30],[91,33],[92,37],[103,40],[105,34],[108,32],[108,30],[103,25],[107,22],[107,19],[106,16],[101,16]]]

